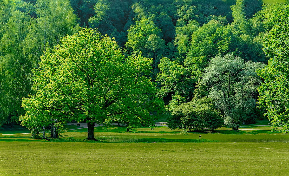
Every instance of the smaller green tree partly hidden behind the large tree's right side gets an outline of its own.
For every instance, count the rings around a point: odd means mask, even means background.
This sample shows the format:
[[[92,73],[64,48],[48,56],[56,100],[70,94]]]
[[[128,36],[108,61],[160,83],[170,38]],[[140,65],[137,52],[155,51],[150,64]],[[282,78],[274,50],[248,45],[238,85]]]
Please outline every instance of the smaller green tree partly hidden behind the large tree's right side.
[[[120,108],[114,109],[121,114],[110,118],[109,121],[127,124],[128,130],[140,126],[154,126],[153,120],[163,113],[164,105],[161,99],[154,98],[155,84],[147,78],[151,73],[151,63],[152,59],[141,55],[127,58],[125,66],[130,68],[127,74],[130,74],[131,79],[127,88],[130,87],[131,90],[123,103],[118,105]]]

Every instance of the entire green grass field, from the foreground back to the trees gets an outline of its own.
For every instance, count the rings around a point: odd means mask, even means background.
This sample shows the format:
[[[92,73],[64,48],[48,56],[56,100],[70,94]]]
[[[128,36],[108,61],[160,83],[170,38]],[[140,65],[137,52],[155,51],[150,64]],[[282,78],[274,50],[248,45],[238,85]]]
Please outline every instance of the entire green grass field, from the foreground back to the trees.
[[[231,129],[181,133],[167,127],[126,132],[124,127],[111,126],[95,127],[95,137],[100,141],[91,142],[83,141],[86,128],[70,125],[66,128],[73,130],[51,141],[18,134],[29,133],[28,130],[0,129],[0,175],[288,173],[289,134]]]

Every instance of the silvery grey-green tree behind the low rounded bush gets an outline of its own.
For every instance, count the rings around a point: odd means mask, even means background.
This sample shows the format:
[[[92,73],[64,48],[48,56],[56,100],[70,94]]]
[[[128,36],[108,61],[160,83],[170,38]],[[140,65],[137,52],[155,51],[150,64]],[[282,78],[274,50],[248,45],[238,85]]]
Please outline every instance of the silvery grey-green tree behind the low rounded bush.
[[[227,54],[212,59],[205,68],[200,88],[209,90],[208,97],[222,112],[225,125],[238,129],[242,122],[252,118],[261,82],[255,70],[263,67],[260,62],[244,63],[243,59]]]

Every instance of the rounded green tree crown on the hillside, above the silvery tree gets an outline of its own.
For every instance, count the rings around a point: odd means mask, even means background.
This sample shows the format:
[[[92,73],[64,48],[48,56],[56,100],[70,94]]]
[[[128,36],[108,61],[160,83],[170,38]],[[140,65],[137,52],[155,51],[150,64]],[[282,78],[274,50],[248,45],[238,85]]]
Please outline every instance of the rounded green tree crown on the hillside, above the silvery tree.
[[[236,38],[221,22],[212,20],[192,33],[190,50],[185,62],[193,64],[199,74],[211,58],[235,51]]]

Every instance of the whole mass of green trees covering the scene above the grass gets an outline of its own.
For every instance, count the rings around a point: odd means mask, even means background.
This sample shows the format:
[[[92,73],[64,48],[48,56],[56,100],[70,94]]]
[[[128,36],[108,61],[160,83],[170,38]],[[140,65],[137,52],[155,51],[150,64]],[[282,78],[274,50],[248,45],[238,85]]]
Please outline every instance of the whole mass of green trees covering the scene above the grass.
[[[287,1],[0,0],[0,126],[286,132],[288,52]]]

